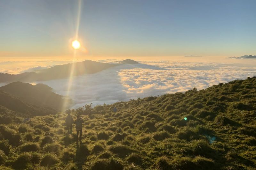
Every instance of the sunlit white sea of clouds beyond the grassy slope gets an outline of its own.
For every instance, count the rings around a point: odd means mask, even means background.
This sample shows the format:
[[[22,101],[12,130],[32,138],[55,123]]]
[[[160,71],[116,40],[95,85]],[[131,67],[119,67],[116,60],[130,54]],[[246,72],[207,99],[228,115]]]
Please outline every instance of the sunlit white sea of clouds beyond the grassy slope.
[[[108,63],[115,61],[101,60]],[[123,64],[72,79],[33,83],[49,85],[53,92],[73,99],[72,108],[77,108],[88,103],[95,106],[139,97],[185,92],[194,87],[200,90],[220,82],[256,76],[256,61],[248,61],[139,61],[140,64]]]

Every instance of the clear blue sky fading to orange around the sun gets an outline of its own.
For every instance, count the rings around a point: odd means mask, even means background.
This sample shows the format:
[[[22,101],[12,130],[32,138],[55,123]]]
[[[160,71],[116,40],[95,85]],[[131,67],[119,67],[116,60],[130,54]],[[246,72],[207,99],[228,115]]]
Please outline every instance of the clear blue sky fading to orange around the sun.
[[[77,29],[86,49],[77,55],[85,58],[256,55],[255,6],[255,0],[0,0],[0,57],[71,57]]]

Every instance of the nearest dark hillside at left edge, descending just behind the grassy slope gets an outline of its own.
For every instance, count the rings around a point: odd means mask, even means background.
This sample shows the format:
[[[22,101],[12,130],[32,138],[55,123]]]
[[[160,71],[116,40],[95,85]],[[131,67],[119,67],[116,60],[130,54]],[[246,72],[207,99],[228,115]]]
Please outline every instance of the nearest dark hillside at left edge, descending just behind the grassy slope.
[[[56,110],[51,107],[39,107],[26,103],[19,98],[0,90],[0,106],[6,107],[9,110],[20,112],[24,114],[25,117],[28,115],[49,115],[55,114]]]

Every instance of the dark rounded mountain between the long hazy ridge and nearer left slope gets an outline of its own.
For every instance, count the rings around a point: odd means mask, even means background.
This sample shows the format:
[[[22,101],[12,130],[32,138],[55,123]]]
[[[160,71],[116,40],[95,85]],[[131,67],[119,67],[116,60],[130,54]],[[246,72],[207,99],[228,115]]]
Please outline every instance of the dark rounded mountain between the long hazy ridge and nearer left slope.
[[[63,96],[52,92],[52,88],[44,84],[31,85],[29,83],[13,82],[0,87],[0,90],[32,105],[52,107],[59,111],[64,103]],[[69,103],[71,102],[72,100],[69,100]]]

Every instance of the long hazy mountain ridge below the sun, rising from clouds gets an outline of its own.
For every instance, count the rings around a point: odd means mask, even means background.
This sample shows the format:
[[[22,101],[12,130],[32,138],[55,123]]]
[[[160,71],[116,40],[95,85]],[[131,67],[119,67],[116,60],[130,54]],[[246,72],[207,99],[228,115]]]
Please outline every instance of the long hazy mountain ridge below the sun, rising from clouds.
[[[56,65],[48,69],[38,70],[36,72],[26,72],[17,75],[0,73],[0,83],[14,81],[34,82],[67,78],[70,76],[71,70],[73,72],[73,76],[79,76],[83,74],[96,73],[114,66],[117,65],[85,60],[83,62]]]

